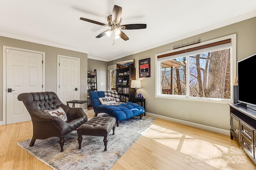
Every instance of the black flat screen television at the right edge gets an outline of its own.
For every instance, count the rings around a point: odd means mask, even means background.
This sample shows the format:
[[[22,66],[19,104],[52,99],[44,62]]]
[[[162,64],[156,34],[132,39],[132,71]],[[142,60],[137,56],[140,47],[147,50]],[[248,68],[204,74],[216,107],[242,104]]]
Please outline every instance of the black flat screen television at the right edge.
[[[256,108],[256,54],[238,61],[238,102]],[[249,106],[248,106],[249,105]]]

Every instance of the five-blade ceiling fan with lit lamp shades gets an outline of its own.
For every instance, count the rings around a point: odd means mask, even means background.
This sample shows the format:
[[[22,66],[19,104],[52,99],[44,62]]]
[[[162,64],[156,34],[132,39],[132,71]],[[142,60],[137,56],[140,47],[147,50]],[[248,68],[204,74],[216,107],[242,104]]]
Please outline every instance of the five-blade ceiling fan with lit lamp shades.
[[[107,35],[108,37],[110,37],[110,35],[113,33],[113,45],[114,45],[114,39],[118,39],[118,38],[122,38],[124,41],[128,40],[129,38],[127,37],[127,35],[121,31],[121,29],[144,29],[147,27],[146,24],[126,24],[126,25],[121,25],[121,18],[122,15],[122,8],[120,6],[115,5],[112,15],[108,16],[108,24],[105,23],[101,23],[98,21],[93,21],[93,20],[89,20],[86,18],[80,18],[80,20],[84,20],[90,23],[95,23],[98,25],[102,25],[105,27],[110,27],[110,29],[100,33],[96,38],[100,38],[103,37],[104,35]]]

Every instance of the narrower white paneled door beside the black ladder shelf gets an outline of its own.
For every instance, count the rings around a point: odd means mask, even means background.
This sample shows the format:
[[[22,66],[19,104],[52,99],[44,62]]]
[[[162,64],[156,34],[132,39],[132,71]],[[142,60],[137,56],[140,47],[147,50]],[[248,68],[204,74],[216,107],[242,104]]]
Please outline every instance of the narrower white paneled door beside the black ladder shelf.
[[[78,100],[79,59],[74,57],[59,57],[59,98],[66,104],[70,100]],[[78,106],[75,106],[78,107]]]

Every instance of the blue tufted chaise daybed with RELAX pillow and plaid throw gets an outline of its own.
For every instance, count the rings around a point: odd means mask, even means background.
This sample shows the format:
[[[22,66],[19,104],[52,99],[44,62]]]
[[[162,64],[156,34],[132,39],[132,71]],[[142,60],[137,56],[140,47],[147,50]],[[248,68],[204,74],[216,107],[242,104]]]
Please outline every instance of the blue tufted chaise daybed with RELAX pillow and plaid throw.
[[[116,118],[117,126],[120,121],[134,116],[140,115],[140,119],[142,119],[142,115],[145,113],[145,109],[137,103],[120,102],[116,91],[93,91],[89,92],[89,96],[95,116],[98,113],[107,113]]]

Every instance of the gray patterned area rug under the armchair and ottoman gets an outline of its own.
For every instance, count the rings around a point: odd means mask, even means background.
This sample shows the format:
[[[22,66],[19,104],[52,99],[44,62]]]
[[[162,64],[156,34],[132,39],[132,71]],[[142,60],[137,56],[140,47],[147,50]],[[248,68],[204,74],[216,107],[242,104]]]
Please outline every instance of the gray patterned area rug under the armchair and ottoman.
[[[33,147],[29,147],[31,139],[17,145],[53,169],[109,170],[153,121],[154,118],[144,116],[120,121],[115,135],[112,130],[108,135],[107,151],[104,151],[104,137],[96,136],[82,136],[82,149],[78,149],[76,131],[64,137],[64,152],[60,152],[58,137],[36,140]]]

